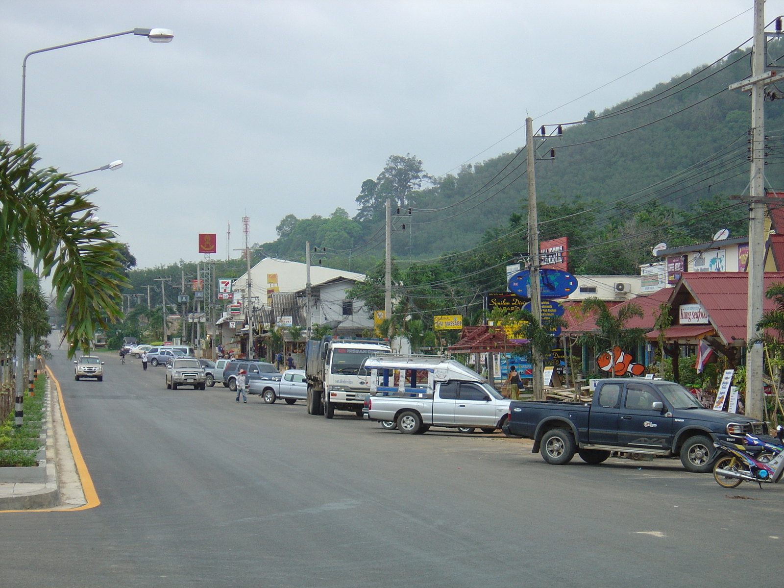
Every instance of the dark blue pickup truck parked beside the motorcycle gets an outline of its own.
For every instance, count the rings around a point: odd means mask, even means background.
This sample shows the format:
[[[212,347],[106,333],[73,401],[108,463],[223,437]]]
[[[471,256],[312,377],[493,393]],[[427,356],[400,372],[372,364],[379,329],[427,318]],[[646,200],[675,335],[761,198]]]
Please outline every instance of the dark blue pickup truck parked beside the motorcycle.
[[[602,463],[625,452],[680,457],[692,472],[711,470],[714,440],[768,433],[758,420],[702,408],[680,384],[641,378],[599,380],[590,404],[513,401],[503,429],[533,439],[547,463],[569,463],[575,453]]]

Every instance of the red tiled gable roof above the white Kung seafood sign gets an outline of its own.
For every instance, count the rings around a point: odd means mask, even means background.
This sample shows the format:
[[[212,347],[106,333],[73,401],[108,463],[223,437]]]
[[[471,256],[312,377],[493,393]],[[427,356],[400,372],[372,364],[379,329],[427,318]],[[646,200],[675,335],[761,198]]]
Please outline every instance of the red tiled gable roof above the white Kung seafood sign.
[[[745,271],[689,272],[681,276],[675,290],[688,289],[705,309],[724,343],[731,345],[733,341],[746,340],[748,278]],[[775,282],[784,282],[784,272],[766,271],[764,289]],[[774,310],[774,307],[772,300],[764,299],[763,310]]]

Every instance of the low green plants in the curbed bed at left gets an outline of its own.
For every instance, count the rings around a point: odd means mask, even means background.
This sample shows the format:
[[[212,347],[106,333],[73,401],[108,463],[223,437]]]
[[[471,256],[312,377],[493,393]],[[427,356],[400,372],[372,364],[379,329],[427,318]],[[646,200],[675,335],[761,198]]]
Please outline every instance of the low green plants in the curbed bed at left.
[[[0,424],[0,467],[34,466],[42,443],[38,436],[45,426],[43,400],[46,376],[38,374],[34,396],[24,394],[24,425],[16,429],[13,412]]]

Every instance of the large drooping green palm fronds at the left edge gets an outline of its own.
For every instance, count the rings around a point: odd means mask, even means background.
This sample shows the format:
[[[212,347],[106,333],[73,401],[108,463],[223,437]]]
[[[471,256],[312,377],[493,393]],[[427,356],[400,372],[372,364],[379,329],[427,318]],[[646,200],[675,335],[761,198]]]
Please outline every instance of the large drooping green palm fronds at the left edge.
[[[69,354],[89,349],[96,326],[122,316],[122,245],[107,223],[93,219],[96,205],[67,174],[34,169],[35,146],[13,148],[0,140],[0,251],[20,244],[42,277],[51,276],[65,302]]]

